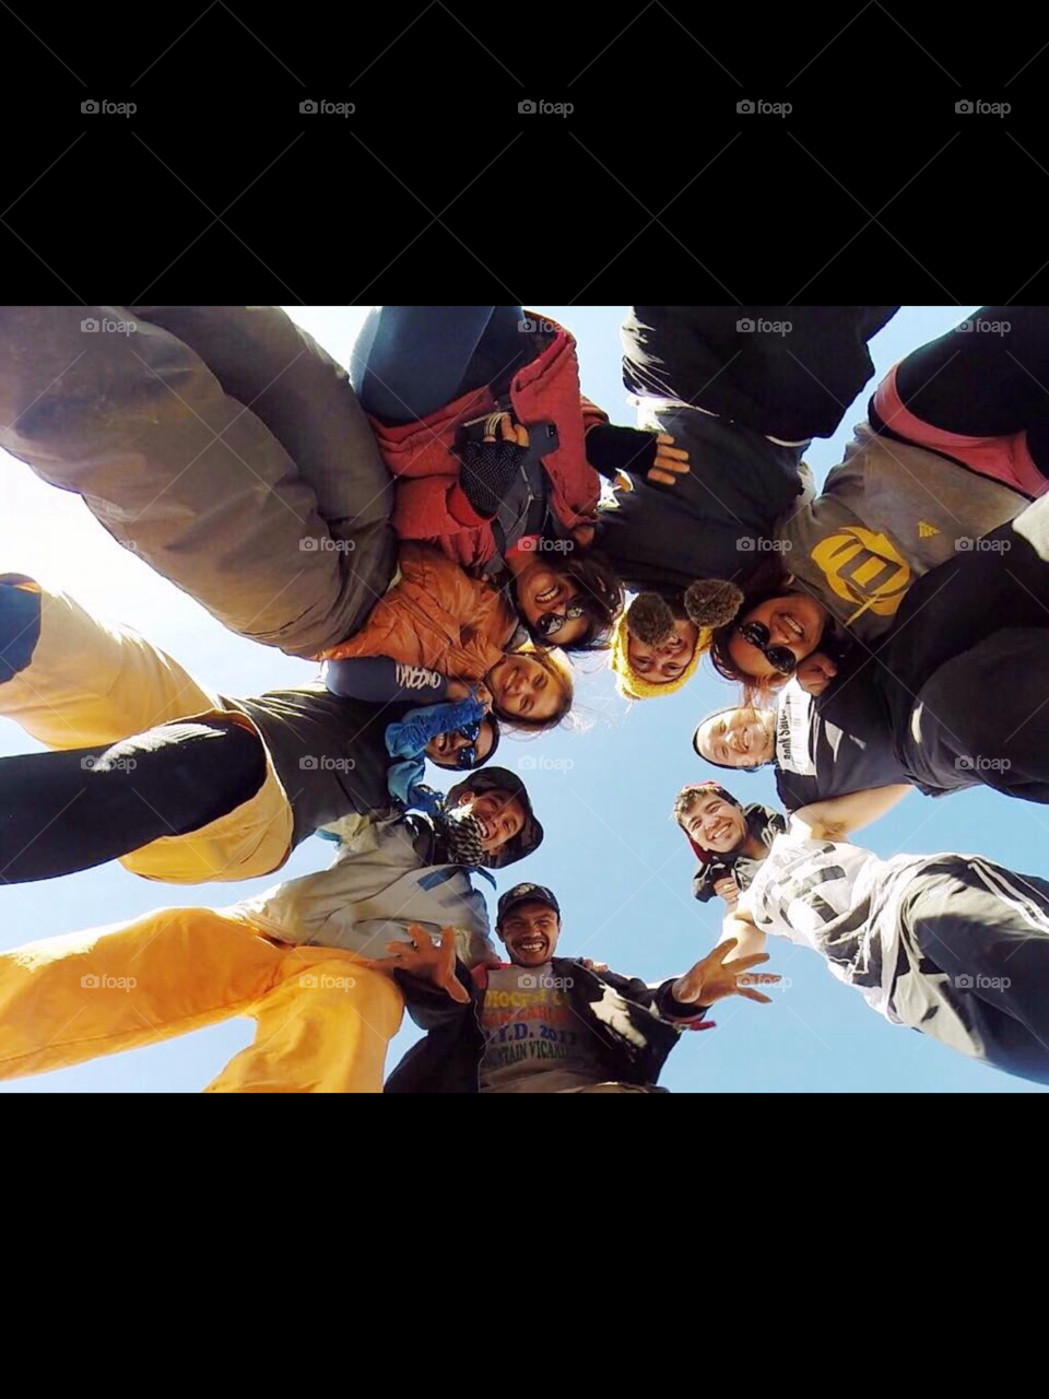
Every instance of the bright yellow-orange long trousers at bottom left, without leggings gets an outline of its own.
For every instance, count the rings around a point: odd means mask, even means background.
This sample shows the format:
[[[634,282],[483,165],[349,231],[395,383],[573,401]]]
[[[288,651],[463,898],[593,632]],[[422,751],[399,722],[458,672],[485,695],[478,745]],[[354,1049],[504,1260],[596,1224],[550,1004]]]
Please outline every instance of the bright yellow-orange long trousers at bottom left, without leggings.
[[[277,944],[236,908],[162,908],[0,954],[0,1079],[250,1016],[207,1093],[380,1093],[404,1000],[337,947]]]

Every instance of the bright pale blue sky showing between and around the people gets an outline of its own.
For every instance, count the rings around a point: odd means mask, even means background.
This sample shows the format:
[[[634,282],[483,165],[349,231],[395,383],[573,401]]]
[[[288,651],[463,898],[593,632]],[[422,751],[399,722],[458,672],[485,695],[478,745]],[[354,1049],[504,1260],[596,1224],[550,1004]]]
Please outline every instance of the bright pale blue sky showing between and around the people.
[[[343,362],[364,316],[358,308],[285,308]],[[618,326],[625,306],[533,309],[569,326],[579,340],[583,392],[613,421],[632,424],[620,379]],[[909,350],[948,330],[973,306],[905,308],[873,341],[877,375]],[[822,480],[841,460],[869,390],[845,416],[838,436],[817,442],[808,462]],[[313,673],[305,662],[232,637],[178,589],[115,544],[74,495],[41,483],[0,452],[6,509],[0,571],[39,576],[74,593],[99,616],[137,627],[225,694],[257,694]],[[628,706],[611,676],[593,662],[579,673],[578,725],[533,740],[504,739],[501,761],[529,782],[547,838],[540,852],[499,879],[551,886],[564,912],[559,951],[607,961],[646,981],[699,960],[716,942],[720,904],[691,897],[694,856],[670,818],[678,788],[713,775],[692,753],[691,734],[706,711],[732,702],[733,687],[705,667],[677,695]],[[0,719],[0,755],[36,747]],[[732,785],[732,783],[730,783]],[[734,782],[744,800],[775,803],[765,774]],[[1022,873],[1043,874],[1049,814],[1039,806],[976,790],[933,802],[913,793],[859,841],[878,855],[979,852]],[[222,907],[280,877],[327,863],[329,845],[305,841],[280,876],[194,888],[159,886],[109,865],[38,884],[0,888],[0,949],[115,923],[158,907]],[[769,970],[789,979],[771,1006],[733,1000],[718,1030],[687,1034],[662,1083],[678,1093],[1041,1093],[1029,1084],[890,1025],[859,993],[834,981],[810,951],[771,940]],[[175,970],[172,970],[175,972]],[[199,1091],[250,1042],[253,1023],[232,1020],[148,1049],[0,1086],[8,1093]],[[387,1067],[418,1038],[406,1028]]]

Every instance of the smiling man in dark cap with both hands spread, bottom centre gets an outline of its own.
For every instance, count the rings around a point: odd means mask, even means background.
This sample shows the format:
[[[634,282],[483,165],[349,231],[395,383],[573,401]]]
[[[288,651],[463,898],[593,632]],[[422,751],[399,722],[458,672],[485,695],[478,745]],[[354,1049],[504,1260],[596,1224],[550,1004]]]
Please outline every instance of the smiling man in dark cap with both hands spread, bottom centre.
[[[706,1007],[732,995],[769,999],[750,985],[766,978],[744,975],[754,958],[726,972],[727,944],[659,986],[555,956],[561,908],[543,884],[502,895],[497,932],[509,963],[495,968],[467,972],[450,943],[435,949],[428,937],[396,953],[413,974],[401,981],[408,1013],[429,1034],[387,1093],[662,1093],[656,1081],[680,1032],[713,1028]],[[442,989],[450,971],[469,993],[463,1000]]]

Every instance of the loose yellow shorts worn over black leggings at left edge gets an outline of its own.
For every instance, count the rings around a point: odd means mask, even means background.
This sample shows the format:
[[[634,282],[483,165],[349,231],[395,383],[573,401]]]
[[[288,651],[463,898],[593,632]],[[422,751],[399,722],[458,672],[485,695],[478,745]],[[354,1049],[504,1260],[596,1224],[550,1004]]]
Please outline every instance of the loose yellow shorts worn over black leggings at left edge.
[[[176,719],[232,719],[259,733],[246,715],[228,709],[214,690],[130,627],[97,621],[69,593],[46,592],[22,575],[0,574],[4,585],[41,593],[41,638],[29,666],[0,686],[0,715],[46,747],[119,743]],[[255,879],[287,860],[292,824],[267,751],[266,779],[250,800],[187,835],[143,845],[120,863],[168,884]]]

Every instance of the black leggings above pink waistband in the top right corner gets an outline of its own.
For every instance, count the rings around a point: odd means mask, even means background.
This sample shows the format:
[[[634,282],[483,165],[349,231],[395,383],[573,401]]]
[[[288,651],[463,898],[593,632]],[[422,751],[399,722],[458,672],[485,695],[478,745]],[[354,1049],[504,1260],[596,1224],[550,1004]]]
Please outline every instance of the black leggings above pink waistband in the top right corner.
[[[1007,325],[997,332],[980,326]],[[968,436],[1027,431],[1038,469],[1049,476],[1049,309],[985,306],[939,340],[909,354],[897,390],[923,422]]]

